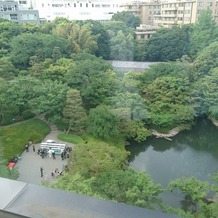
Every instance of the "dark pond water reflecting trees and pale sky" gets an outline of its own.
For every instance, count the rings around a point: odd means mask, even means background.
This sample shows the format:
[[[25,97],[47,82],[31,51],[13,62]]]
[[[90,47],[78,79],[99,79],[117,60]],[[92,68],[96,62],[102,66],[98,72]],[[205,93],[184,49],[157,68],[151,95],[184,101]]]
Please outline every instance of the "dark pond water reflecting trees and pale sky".
[[[218,171],[218,127],[207,119],[199,119],[190,131],[179,133],[172,141],[150,137],[126,149],[131,152],[130,167],[147,171],[163,187],[179,177],[194,176],[211,182],[209,175]],[[165,198],[178,206],[172,196],[165,194]]]

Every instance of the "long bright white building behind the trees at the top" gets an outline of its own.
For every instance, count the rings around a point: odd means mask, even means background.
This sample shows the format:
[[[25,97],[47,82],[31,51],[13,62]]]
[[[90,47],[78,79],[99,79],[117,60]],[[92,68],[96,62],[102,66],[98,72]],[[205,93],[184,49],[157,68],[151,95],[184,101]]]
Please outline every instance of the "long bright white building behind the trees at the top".
[[[22,0],[23,7],[39,11],[41,20],[64,17],[69,20],[108,21],[113,14],[121,11],[121,0]]]

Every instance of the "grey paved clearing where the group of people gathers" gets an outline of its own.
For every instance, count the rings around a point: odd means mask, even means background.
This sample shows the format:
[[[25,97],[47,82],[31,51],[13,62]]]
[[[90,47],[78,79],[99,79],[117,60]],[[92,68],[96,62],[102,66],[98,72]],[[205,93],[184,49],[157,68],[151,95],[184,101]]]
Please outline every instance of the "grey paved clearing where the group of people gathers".
[[[45,139],[53,139],[61,142],[57,139],[57,135],[60,132],[58,130],[52,130]],[[72,144],[67,143],[69,146]],[[40,144],[34,144],[36,151],[40,147]],[[64,165],[67,164],[67,160],[62,160],[60,155],[56,155],[56,159],[37,155],[37,152],[33,152],[33,145],[29,147],[29,152],[24,151],[21,155],[21,159],[17,162],[16,167],[19,171],[18,181],[41,185],[42,181],[52,181],[55,177],[51,176],[51,172],[57,168],[59,172],[63,170]],[[43,167],[44,176],[41,178],[40,167]]]

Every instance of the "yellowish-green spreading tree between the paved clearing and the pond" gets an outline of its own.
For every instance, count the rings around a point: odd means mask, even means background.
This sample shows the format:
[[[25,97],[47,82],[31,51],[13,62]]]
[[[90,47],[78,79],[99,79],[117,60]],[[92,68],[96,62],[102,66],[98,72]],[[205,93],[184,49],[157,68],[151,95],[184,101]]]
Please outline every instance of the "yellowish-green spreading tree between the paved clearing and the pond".
[[[69,173],[80,173],[85,179],[103,172],[126,168],[128,152],[91,137],[85,144],[75,145],[69,159]]]

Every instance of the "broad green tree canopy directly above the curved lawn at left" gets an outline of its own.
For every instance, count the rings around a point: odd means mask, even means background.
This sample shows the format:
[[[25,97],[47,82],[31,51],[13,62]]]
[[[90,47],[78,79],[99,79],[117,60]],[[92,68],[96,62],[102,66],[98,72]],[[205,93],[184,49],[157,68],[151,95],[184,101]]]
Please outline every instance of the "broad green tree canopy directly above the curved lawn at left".
[[[34,114],[47,113],[50,120],[60,120],[68,87],[57,81],[40,81],[23,76],[6,84],[2,100],[7,107],[14,107],[17,116],[22,117],[26,110]]]

